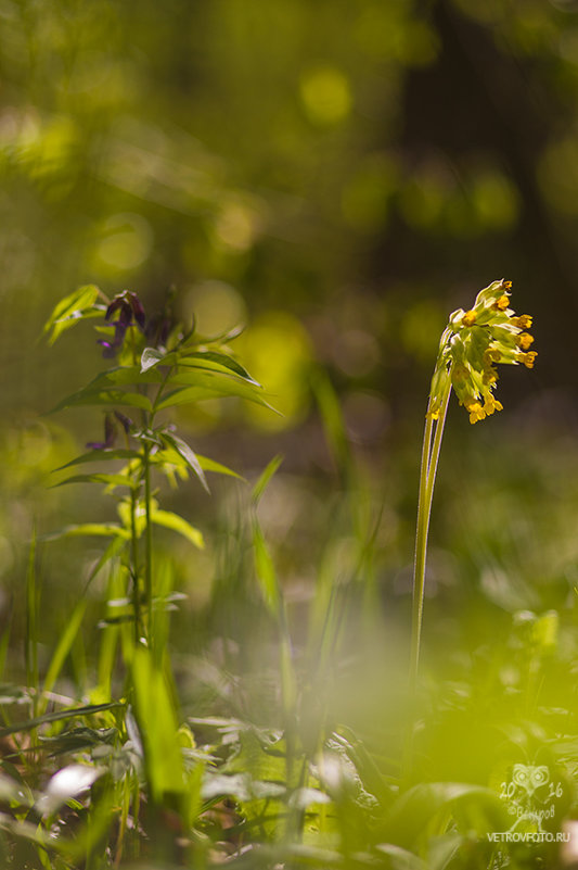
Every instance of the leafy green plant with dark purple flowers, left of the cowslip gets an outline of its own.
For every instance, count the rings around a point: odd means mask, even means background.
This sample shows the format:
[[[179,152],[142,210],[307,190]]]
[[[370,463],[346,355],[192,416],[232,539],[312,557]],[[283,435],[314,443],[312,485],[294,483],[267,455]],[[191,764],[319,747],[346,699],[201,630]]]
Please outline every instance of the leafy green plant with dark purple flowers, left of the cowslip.
[[[124,291],[108,300],[94,286],[82,287],[62,300],[49,318],[49,341],[86,319],[99,318],[98,343],[102,356],[112,361],[90,383],[62,400],[54,411],[89,405],[105,411],[104,439],[87,444],[89,451],[61,469],[125,459],[114,474],[73,475],[62,483],[104,483],[108,491],[124,489],[118,497],[118,521],[68,526],[62,534],[100,534],[111,544],[100,566],[124,553],[132,588],[134,640],[149,638],[155,601],[153,526],[164,526],[203,546],[198,529],[183,517],[162,510],[153,495],[152,474],[162,472],[175,486],[177,478],[192,474],[208,492],[205,471],[234,475],[219,463],[198,456],[160,412],[204,399],[239,396],[268,405],[262,388],[231,352],[236,332],[206,338],[194,325],[185,328],[170,310],[147,317],[136,293]],[[128,416],[131,414],[132,416]],[[117,447],[121,436],[124,446]]]

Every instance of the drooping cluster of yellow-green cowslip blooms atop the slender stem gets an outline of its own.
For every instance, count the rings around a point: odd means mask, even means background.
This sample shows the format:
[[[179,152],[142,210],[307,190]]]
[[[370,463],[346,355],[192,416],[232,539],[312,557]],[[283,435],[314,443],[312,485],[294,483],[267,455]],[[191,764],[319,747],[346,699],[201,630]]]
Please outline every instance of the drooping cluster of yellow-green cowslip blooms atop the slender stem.
[[[534,367],[538,354],[529,350],[534,337],[526,331],[531,328],[531,317],[516,317],[509,307],[511,288],[511,281],[493,281],[480,290],[473,308],[458,308],[450,315],[432,379],[431,419],[439,417],[448,379],[474,424],[502,409],[493,395],[498,363]]]

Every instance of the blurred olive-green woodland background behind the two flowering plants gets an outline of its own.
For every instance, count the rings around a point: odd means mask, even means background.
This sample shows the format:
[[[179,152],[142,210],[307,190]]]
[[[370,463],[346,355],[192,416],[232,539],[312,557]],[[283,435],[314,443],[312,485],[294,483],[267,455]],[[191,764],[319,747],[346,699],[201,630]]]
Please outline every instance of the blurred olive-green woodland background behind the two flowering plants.
[[[214,401],[178,423],[249,478],[284,454],[261,521],[298,627],[320,559],[349,577],[355,540],[371,534],[386,618],[408,625],[439,335],[478,289],[513,280],[538,363],[502,375],[499,418],[470,427],[450,413],[426,634],[451,673],[448,638],[459,665],[488,625],[504,626],[505,644],[512,613],[567,603],[578,573],[577,2],[0,0],[0,78],[4,620],[12,608],[23,619],[33,525],[112,509],[90,487],[47,489],[50,469],[101,437],[92,415],[39,416],[101,367],[89,326],[54,349],[38,339],[56,301],[88,282],[134,291],[150,311],[175,287],[202,331],[247,325],[240,355],[284,416]],[[323,433],[319,366],[342,403],[352,484]],[[339,514],[348,487],[354,531]],[[207,607],[241,490],[220,481],[211,500],[193,486],[175,496],[207,534],[201,555],[172,550],[207,633],[234,635],[210,627]],[[50,546],[43,583],[69,604],[98,547]],[[47,643],[66,618],[56,610]]]

